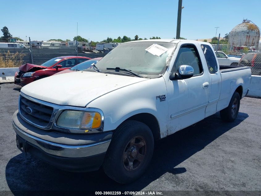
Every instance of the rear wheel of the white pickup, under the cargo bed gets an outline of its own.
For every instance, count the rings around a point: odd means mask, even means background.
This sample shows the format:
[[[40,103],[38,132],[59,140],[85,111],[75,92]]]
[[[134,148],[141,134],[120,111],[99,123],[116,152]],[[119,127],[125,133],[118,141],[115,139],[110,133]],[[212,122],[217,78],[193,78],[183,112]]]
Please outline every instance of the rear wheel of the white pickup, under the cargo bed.
[[[219,112],[221,119],[225,122],[233,122],[237,118],[239,107],[240,95],[238,92],[234,92],[228,107]]]

